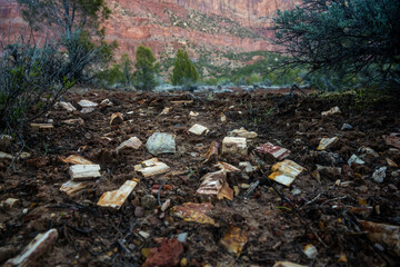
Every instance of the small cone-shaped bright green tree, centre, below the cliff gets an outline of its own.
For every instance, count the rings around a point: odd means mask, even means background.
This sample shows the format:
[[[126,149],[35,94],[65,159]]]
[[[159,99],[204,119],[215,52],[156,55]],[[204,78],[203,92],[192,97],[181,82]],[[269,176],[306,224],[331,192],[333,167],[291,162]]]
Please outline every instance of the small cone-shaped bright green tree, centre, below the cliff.
[[[190,85],[198,80],[199,73],[196,70],[194,63],[189,59],[188,52],[179,49],[173,63],[172,85]]]

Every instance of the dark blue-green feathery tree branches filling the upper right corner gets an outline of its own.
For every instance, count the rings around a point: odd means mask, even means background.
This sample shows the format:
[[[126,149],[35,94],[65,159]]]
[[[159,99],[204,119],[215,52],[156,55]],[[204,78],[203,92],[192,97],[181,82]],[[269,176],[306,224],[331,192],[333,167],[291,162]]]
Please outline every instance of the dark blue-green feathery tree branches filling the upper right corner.
[[[278,11],[274,29],[290,55],[282,61],[287,69],[400,82],[399,0],[302,0]]]

